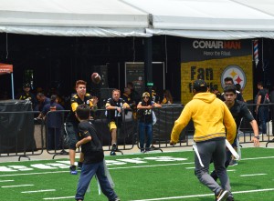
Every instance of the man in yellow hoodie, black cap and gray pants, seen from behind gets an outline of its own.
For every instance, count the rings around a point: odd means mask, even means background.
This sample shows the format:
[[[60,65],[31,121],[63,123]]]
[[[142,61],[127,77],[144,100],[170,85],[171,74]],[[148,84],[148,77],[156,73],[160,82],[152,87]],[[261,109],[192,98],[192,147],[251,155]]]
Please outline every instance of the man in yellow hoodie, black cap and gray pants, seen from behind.
[[[226,104],[209,92],[205,80],[195,80],[193,93],[193,99],[184,106],[181,116],[174,123],[170,145],[178,142],[182,130],[192,119],[195,126],[195,175],[215,193],[216,201],[227,200],[231,186],[225,166],[226,137],[232,144],[237,126]],[[221,186],[209,175],[211,161]]]

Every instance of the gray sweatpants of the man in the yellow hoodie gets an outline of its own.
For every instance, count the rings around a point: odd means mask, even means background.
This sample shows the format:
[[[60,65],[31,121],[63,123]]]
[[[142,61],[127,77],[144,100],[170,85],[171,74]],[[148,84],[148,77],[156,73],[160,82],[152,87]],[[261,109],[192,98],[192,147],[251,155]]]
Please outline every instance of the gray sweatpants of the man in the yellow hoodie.
[[[195,174],[200,182],[210,188],[216,195],[221,189],[225,189],[228,192],[231,191],[227,169],[225,167],[227,159],[225,140],[225,138],[216,138],[196,143],[204,167],[201,166],[195,154]],[[216,174],[220,179],[221,186],[209,175],[209,165],[212,161],[216,169]]]

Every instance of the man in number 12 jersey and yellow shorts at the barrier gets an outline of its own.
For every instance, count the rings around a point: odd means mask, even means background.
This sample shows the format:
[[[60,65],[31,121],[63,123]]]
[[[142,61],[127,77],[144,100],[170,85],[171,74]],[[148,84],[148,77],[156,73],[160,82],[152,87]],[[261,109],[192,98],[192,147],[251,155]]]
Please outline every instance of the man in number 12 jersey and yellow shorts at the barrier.
[[[123,109],[131,108],[122,98],[119,89],[113,89],[112,97],[107,100],[106,109],[111,131],[111,156],[117,151],[117,128],[121,127]]]

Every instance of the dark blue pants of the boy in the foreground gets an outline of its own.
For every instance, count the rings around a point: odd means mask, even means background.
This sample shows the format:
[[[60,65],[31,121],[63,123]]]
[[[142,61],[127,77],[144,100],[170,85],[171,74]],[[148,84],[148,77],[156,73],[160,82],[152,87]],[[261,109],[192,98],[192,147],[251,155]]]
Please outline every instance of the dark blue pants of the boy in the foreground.
[[[83,164],[81,169],[81,174],[79,176],[79,182],[77,186],[77,193],[75,199],[84,200],[84,196],[90,184],[92,177],[96,174],[102,193],[109,198],[109,200],[114,200],[117,195],[111,188],[111,184],[108,177],[105,175],[105,169],[103,161],[96,164]]]

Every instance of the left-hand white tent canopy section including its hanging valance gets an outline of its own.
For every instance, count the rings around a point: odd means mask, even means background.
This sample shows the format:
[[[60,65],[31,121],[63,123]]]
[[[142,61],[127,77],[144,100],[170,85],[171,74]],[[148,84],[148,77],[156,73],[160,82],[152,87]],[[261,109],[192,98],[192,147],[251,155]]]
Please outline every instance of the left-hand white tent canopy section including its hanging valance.
[[[152,36],[148,15],[120,0],[0,0],[0,32],[26,35]]]

